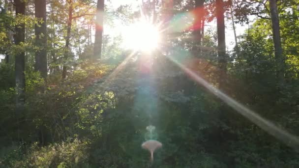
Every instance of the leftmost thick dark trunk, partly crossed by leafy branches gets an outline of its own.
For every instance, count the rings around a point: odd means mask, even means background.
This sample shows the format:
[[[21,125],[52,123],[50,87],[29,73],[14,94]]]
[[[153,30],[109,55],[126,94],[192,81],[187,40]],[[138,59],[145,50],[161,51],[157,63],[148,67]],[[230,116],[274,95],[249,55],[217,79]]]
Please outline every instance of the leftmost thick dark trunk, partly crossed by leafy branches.
[[[16,16],[25,15],[25,2],[15,0]],[[15,27],[15,45],[25,42],[25,23],[20,23]],[[25,52],[19,51],[15,56],[15,80],[16,80],[16,115],[18,122],[18,139],[19,139],[19,117],[24,112],[25,104]]]

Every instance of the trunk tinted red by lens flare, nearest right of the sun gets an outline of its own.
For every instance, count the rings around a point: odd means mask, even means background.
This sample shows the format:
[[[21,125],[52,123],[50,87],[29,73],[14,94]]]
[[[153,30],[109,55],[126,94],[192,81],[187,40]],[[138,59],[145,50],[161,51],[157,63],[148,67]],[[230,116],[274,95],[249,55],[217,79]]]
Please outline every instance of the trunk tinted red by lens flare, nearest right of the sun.
[[[194,45],[192,48],[194,56],[201,56],[201,39],[202,39],[202,18],[204,15],[204,2],[205,0],[195,0],[194,24],[193,24],[193,39]]]

